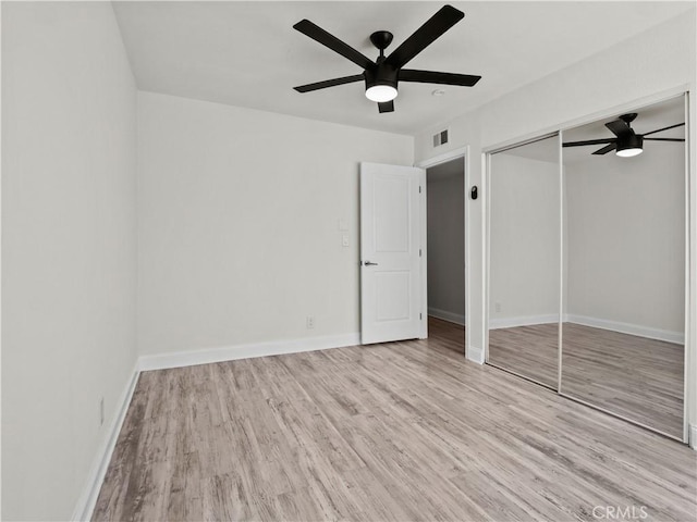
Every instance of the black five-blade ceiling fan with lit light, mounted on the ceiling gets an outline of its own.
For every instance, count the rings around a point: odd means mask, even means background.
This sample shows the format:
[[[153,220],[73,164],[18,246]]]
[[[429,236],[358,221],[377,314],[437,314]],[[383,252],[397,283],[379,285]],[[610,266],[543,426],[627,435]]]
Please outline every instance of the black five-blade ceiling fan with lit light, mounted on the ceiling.
[[[388,30],[372,33],[370,35],[370,41],[380,51],[380,55],[375,62],[335,36],[315,25],[309,20],[302,20],[295,24],[293,28],[351,60],[364,71],[362,74],[301,85],[294,87],[294,89],[298,92],[309,92],[311,90],[365,80],[366,97],[370,101],[378,103],[378,110],[380,112],[392,112],[394,111],[393,100],[396,98],[398,84],[400,82],[472,87],[479,82],[481,76],[402,69],[409,60],[426,49],[464,16],[465,13],[452,5],[443,5],[387,58],[384,57],[384,49],[392,42],[392,33]]]

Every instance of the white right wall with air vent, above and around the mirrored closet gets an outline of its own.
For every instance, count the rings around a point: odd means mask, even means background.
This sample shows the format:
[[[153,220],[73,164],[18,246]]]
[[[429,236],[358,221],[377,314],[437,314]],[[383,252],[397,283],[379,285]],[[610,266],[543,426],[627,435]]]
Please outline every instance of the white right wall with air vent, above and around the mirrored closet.
[[[636,101],[657,92],[690,86],[695,89],[695,13],[682,15],[660,24],[634,38],[621,42],[596,55],[570,65],[545,78],[525,85],[479,108],[477,111],[458,116],[450,122],[441,122],[426,128],[416,138],[416,160],[444,153],[469,145],[473,185],[482,186],[482,159],[485,148],[504,142],[517,141],[523,137],[543,134],[548,130],[596,120],[606,111],[620,107],[629,109]],[[476,87],[475,87],[476,88]],[[694,101],[694,100],[693,100]],[[697,123],[697,103],[690,105],[690,122]],[[438,129],[450,128],[450,144],[432,148],[431,135]],[[694,149],[690,158],[695,160]],[[692,197],[697,197],[695,185],[695,161],[692,169]],[[486,187],[482,187],[486,189]],[[485,198],[468,200],[465,223],[467,226],[468,259],[470,259],[469,281],[466,283],[470,307],[467,311],[468,357],[484,356],[485,309],[484,309],[484,215]],[[690,214],[692,237],[697,228],[697,215]],[[697,254],[697,250],[693,250]],[[697,277],[690,282],[696,290]],[[694,337],[694,344],[697,337]],[[692,355],[692,381],[697,381],[695,355]],[[481,359],[479,359],[481,360]],[[697,388],[688,394],[693,405],[692,421],[697,422]]]

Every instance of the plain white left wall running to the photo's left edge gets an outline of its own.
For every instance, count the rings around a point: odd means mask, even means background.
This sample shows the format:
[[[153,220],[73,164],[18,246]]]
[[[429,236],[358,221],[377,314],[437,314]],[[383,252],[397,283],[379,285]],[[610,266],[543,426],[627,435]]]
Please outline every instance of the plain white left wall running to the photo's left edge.
[[[136,359],[136,92],[111,4],[3,2],[2,105],[2,518],[66,520]]]

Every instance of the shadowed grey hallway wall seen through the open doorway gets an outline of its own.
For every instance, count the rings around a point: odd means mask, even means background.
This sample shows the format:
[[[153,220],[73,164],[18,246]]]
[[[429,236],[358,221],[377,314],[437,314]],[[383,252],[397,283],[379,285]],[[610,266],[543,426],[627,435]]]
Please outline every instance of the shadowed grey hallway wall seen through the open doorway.
[[[453,173],[426,172],[428,313],[464,324],[465,172],[462,159],[454,162]]]

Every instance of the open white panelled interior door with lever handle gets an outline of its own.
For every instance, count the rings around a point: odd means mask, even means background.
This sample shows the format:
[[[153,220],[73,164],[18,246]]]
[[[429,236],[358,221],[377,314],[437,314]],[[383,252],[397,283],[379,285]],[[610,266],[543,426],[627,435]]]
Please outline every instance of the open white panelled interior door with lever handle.
[[[419,337],[426,171],[360,163],[360,340]]]

